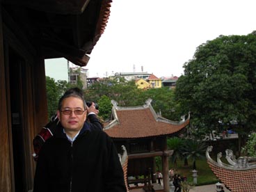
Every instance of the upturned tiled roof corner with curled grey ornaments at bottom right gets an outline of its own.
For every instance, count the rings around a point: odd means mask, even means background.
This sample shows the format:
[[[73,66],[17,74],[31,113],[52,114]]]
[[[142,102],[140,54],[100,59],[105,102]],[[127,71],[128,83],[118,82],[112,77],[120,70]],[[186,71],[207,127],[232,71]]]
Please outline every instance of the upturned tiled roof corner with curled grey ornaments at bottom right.
[[[222,153],[217,154],[217,161],[211,159],[209,152],[212,146],[207,147],[207,163],[214,174],[221,179],[221,182],[232,192],[256,191],[256,163],[255,158],[239,157],[236,159],[232,150],[226,150],[227,163],[221,161]]]

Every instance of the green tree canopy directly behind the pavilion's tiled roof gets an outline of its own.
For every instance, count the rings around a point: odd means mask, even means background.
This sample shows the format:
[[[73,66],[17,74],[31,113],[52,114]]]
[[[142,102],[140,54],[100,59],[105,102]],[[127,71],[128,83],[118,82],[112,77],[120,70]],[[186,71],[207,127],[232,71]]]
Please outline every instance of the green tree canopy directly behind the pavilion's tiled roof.
[[[145,101],[149,98],[152,99],[152,107],[157,113],[161,112],[164,118],[170,120],[181,120],[179,113],[179,104],[175,102],[174,90],[170,88],[152,88],[149,90],[138,89],[135,81],[126,81],[123,78],[117,77],[113,79],[104,79],[93,83],[92,86],[85,90],[85,98],[94,102],[99,102],[104,97],[109,100],[115,100],[119,106],[139,106],[145,104]],[[99,111],[105,113],[109,111],[108,102],[104,102],[104,105],[99,104]],[[186,111],[187,114],[188,111]],[[184,115],[182,114],[182,115]],[[103,115],[103,113],[100,113]],[[104,118],[109,116],[104,115]]]

